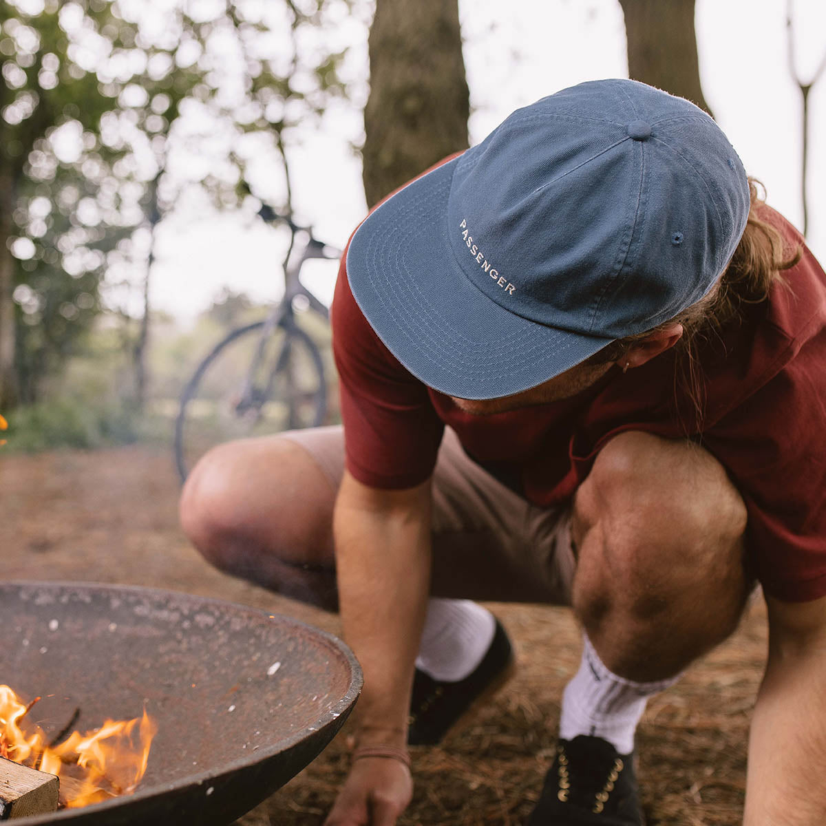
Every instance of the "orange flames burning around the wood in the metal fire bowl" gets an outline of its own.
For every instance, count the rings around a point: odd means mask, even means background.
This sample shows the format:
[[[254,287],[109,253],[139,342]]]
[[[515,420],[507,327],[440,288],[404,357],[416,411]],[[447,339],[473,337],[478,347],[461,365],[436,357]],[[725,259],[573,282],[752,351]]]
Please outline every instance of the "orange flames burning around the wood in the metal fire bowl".
[[[74,731],[63,743],[50,746],[35,724],[21,720],[29,705],[9,686],[0,686],[0,757],[48,771],[60,780],[60,803],[86,806],[116,795],[129,795],[140,783],[158,730],[144,710],[131,720],[107,720],[100,729]]]

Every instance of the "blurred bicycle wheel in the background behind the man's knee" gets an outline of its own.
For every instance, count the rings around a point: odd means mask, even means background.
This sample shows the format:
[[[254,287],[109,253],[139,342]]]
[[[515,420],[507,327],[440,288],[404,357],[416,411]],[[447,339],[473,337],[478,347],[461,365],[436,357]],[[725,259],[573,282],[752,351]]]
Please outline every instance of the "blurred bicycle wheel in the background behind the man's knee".
[[[316,344],[288,320],[263,335],[263,321],[233,330],[184,388],[174,444],[182,482],[216,444],[324,421],[327,387]]]

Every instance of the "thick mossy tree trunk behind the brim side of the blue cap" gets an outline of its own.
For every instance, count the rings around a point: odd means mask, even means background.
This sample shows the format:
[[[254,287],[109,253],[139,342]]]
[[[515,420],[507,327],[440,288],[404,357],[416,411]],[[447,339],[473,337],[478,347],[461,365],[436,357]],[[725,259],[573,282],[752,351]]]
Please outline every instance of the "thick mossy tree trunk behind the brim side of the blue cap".
[[[468,148],[458,0],[377,0],[364,109],[371,206],[445,155]]]

